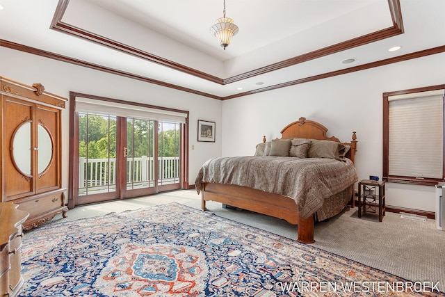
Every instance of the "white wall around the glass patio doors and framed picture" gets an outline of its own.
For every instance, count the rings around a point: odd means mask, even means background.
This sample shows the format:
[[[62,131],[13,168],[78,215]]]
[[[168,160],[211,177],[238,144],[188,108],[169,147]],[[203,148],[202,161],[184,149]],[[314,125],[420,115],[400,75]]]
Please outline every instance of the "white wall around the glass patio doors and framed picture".
[[[202,163],[221,155],[221,102],[217,99],[90,70],[86,67],[4,47],[0,47],[0,76],[29,86],[33,83],[42,83],[47,92],[66,98],[70,97],[70,91],[74,91],[190,111],[189,184],[194,184],[195,176]],[[68,186],[69,109],[70,106],[67,104],[67,108],[62,113],[63,187]],[[216,122],[215,143],[197,142],[197,120]]]

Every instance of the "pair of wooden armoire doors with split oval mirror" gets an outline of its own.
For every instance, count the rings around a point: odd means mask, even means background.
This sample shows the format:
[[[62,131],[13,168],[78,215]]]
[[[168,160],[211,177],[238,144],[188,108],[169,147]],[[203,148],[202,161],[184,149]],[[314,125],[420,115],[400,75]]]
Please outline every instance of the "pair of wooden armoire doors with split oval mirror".
[[[60,113],[49,106],[3,97],[5,201],[60,188]]]

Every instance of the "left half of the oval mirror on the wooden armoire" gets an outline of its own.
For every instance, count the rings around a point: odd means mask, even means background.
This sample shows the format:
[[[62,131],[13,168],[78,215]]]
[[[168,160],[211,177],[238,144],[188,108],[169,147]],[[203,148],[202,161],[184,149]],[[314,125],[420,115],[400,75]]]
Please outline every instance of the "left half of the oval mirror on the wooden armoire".
[[[11,158],[22,175],[31,177],[31,122],[19,125],[13,134]]]

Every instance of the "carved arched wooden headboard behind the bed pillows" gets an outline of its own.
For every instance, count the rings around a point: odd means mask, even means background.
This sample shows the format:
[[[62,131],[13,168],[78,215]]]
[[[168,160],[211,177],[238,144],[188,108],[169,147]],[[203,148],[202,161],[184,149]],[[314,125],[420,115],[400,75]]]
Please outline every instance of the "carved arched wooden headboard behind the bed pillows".
[[[326,136],[327,128],[318,122],[312,120],[306,120],[306,118],[301,117],[298,121],[292,122],[281,130],[282,139],[289,138],[312,138],[318,140],[327,141],[337,141],[337,143],[343,143],[339,141],[339,138],[331,136]],[[266,142],[266,136],[263,137],[263,142]],[[350,143],[343,143],[344,145],[349,145],[350,150],[346,157],[351,161],[355,161],[355,153],[357,152],[357,136],[355,131],[353,132],[352,140]]]

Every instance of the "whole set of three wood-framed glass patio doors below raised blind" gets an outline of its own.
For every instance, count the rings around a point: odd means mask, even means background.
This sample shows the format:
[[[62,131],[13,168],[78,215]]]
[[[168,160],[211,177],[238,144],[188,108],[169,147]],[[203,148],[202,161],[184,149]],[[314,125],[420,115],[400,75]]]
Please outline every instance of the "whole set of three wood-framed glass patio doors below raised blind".
[[[98,113],[77,115],[79,170],[71,208],[181,188],[183,124]]]

